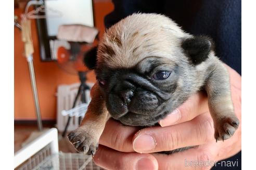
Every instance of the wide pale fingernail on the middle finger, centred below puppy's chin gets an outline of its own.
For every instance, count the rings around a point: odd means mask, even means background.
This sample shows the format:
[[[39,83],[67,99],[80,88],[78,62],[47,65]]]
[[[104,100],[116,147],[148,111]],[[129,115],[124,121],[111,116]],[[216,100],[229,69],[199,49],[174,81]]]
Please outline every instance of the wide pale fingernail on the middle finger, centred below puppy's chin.
[[[136,152],[143,153],[145,151],[153,150],[156,146],[156,142],[150,135],[138,135],[133,140],[133,149]]]

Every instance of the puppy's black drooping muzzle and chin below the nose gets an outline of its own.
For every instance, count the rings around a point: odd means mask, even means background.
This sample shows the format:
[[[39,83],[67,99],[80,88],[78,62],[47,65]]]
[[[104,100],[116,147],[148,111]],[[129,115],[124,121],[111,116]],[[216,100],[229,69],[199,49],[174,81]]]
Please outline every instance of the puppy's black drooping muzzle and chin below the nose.
[[[149,91],[136,91],[129,103],[113,93],[107,98],[106,106],[111,117],[125,125],[153,125],[164,116],[165,102]]]

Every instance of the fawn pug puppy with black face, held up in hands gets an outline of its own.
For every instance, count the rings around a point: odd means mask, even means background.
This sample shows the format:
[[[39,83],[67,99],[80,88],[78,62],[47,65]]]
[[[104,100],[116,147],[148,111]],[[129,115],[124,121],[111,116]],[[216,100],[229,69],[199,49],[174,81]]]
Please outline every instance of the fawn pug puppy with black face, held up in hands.
[[[92,101],[68,138],[76,150],[94,155],[105,123],[152,126],[199,90],[208,94],[217,140],[239,125],[223,63],[206,36],[193,36],[171,19],[137,13],[110,27],[98,45]]]

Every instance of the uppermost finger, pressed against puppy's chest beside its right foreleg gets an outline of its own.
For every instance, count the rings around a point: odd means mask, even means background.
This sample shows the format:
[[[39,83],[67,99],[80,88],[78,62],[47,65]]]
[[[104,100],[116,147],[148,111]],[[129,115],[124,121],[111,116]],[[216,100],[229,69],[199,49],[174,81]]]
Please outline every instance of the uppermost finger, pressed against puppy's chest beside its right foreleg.
[[[182,123],[192,120],[208,110],[207,95],[204,92],[198,92],[190,96],[184,104],[175,109],[165,119],[160,120],[159,124],[164,127]]]

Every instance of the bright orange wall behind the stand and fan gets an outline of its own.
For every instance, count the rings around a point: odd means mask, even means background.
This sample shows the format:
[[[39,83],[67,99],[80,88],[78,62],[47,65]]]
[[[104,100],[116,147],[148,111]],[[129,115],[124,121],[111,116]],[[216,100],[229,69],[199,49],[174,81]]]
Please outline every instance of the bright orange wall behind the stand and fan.
[[[104,33],[104,16],[113,10],[113,5],[108,1],[94,1],[95,26]],[[15,15],[20,16],[23,10],[16,8]],[[76,75],[63,72],[55,62],[42,62],[40,60],[39,41],[37,39],[35,20],[32,20],[32,39],[34,45],[34,69],[37,91],[43,120],[56,119],[57,86],[79,82]],[[15,120],[36,119],[28,63],[23,55],[21,32],[14,30],[14,117]],[[95,82],[93,72],[88,74],[88,81]]]

